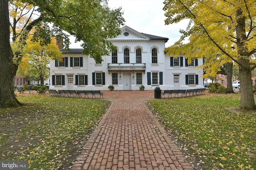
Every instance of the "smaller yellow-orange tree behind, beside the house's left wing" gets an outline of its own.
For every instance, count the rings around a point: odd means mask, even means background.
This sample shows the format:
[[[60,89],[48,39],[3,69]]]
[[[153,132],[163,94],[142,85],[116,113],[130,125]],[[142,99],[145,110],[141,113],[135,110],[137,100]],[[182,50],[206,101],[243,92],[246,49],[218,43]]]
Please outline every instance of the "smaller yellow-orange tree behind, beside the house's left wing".
[[[61,51],[54,38],[51,39],[50,44],[46,45],[40,45],[40,41],[34,42],[31,38],[30,36],[27,40],[22,52],[23,58],[17,74],[37,78],[43,85],[44,80],[49,77],[50,60],[61,60]]]

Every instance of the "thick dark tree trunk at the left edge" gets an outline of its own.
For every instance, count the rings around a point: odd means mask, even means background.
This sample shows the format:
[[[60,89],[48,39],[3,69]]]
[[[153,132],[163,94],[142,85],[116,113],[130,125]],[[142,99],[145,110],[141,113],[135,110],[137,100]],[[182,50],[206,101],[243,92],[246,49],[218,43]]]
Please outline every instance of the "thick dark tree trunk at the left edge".
[[[12,49],[10,46],[8,0],[0,1],[0,107],[14,107],[20,102],[14,94]]]

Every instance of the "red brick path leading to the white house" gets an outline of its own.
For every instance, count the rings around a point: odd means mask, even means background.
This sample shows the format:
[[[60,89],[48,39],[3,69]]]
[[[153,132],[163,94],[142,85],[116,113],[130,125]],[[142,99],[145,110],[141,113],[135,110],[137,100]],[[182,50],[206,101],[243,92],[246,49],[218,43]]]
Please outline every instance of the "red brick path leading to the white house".
[[[104,91],[111,105],[72,170],[192,170],[144,101],[150,91]]]

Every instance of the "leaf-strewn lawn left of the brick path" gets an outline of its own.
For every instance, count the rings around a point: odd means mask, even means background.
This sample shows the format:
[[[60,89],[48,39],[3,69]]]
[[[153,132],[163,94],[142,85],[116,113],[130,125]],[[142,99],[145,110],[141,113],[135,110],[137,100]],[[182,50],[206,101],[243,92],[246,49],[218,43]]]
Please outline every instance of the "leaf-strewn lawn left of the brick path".
[[[25,105],[0,109],[0,160],[25,160],[30,170],[68,169],[109,105],[25,94],[18,100]]]

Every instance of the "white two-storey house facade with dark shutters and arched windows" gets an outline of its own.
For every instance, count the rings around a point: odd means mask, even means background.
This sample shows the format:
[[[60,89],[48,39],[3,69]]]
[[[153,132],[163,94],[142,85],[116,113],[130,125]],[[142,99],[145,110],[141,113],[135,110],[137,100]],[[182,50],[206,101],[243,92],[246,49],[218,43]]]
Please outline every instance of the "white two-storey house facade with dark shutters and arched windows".
[[[203,88],[203,60],[188,65],[185,55],[178,58],[163,52],[168,38],[158,37],[124,26],[122,34],[109,39],[117,48],[101,63],[82,55],[83,49],[62,51],[63,62],[50,61],[50,89],[56,90],[162,90]]]

